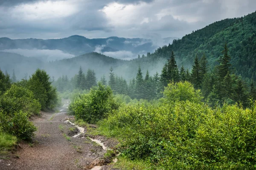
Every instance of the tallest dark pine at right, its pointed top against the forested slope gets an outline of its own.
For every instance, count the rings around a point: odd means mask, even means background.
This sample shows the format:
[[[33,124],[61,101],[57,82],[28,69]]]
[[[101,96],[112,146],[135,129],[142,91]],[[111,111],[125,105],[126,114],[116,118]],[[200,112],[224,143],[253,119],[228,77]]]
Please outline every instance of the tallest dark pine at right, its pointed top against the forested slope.
[[[228,55],[228,48],[227,48],[227,43],[224,45],[224,50],[221,52],[223,56],[220,57],[218,60],[220,65],[218,65],[218,75],[221,79],[223,79],[226,75],[227,72],[230,72],[231,64],[230,64],[230,56]]]

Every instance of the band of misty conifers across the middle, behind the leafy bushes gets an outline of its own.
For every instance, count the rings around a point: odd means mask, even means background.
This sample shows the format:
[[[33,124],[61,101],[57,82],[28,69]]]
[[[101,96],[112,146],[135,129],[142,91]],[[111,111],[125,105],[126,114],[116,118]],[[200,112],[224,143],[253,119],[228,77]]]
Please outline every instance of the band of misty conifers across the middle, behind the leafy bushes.
[[[234,104],[236,102],[248,106],[249,99],[256,99],[256,89],[253,78],[250,85],[237,76],[230,63],[231,56],[224,45],[221,51],[222,55],[218,59],[218,65],[210,69],[208,66],[206,55],[201,57],[196,55],[191,72],[185,70],[183,66],[180,69],[177,67],[175,54],[172,51],[168,62],[163,66],[161,74],[158,73],[150,76],[148,71],[143,77],[143,73],[139,66],[137,76],[129,81],[129,83],[122,77],[118,77],[113,73],[113,68],[110,68],[109,81],[105,76],[100,79],[103,85],[110,85],[114,94],[125,94],[131,99],[159,99],[163,96],[164,88],[170,82],[184,82],[188,81],[194,85],[195,89],[200,89],[204,96],[204,101],[208,102],[211,106],[222,104],[223,102]],[[61,83],[59,83],[61,82]],[[81,67],[78,75],[73,77],[70,81],[66,77],[60,77],[57,80],[60,85],[57,86],[58,90],[61,85],[80,90],[89,90],[96,85],[97,79],[95,72],[88,69],[87,74],[84,74]],[[73,89],[70,88],[70,89]]]

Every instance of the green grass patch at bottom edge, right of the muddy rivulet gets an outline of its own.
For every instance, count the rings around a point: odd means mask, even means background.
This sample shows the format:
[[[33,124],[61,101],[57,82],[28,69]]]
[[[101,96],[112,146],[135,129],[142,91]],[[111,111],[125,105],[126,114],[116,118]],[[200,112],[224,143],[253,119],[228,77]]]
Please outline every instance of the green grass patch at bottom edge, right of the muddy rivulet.
[[[145,161],[130,160],[123,156],[118,157],[118,161],[113,165],[113,168],[121,170],[151,170],[152,167]]]

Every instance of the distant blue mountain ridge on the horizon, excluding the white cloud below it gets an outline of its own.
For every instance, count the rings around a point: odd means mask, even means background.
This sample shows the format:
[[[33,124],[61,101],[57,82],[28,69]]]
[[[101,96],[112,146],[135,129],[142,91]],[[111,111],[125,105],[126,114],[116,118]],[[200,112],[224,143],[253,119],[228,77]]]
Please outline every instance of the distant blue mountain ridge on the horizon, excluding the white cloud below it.
[[[153,52],[157,48],[151,40],[142,38],[108,37],[88,39],[73,35],[62,39],[17,39],[0,38],[0,51],[12,49],[61,50],[68,54],[81,55],[96,52],[131,51],[132,54]],[[29,56],[30,57],[30,56]]]

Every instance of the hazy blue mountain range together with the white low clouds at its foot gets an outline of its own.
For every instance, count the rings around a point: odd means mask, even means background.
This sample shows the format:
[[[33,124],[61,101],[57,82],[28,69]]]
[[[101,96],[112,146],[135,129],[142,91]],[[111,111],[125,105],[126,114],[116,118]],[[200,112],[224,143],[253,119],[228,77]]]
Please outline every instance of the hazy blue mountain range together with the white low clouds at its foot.
[[[62,39],[17,39],[0,38],[0,51],[38,57],[47,61],[71,58],[90,52],[98,52],[118,59],[133,59],[138,54],[147,54],[162,44],[172,43],[175,38],[167,37],[156,42],[142,38],[108,37],[89,39],[73,35]]]

